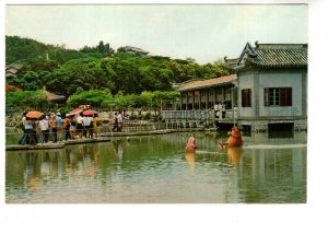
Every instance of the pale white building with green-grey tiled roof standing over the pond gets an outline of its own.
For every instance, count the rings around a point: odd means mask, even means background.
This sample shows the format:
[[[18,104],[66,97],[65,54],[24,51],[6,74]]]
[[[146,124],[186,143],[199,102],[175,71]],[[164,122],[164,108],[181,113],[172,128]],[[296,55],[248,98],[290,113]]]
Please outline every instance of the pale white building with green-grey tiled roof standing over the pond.
[[[236,66],[238,125],[251,131],[307,128],[307,44],[246,44]]]

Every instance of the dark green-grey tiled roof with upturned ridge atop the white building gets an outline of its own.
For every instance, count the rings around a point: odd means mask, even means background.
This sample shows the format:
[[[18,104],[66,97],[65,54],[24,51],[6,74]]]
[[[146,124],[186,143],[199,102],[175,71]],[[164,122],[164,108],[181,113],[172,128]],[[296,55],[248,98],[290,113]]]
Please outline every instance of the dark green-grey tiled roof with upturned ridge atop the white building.
[[[245,63],[254,67],[307,67],[307,44],[256,44],[256,47],[253,47],[248,51],[246,51],[248,56],[245,59]]]

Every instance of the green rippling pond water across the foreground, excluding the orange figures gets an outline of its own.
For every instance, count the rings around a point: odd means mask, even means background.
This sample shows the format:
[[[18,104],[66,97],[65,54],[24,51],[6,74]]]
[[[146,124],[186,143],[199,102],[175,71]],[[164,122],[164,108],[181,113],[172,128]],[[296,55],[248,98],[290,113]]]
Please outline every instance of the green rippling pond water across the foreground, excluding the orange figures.
[[[60,150],[7,151],[7,203],[304,203],[306,132],[244,137],[190,132],[113,138]]]

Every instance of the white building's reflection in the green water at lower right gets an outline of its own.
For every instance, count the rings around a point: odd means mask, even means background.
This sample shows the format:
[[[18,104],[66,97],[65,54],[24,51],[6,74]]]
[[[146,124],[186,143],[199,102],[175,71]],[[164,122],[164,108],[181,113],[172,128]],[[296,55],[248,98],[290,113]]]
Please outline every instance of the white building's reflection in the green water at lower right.
[[[238,165],[245,202],[306,202],[306,149],[247,149]]]

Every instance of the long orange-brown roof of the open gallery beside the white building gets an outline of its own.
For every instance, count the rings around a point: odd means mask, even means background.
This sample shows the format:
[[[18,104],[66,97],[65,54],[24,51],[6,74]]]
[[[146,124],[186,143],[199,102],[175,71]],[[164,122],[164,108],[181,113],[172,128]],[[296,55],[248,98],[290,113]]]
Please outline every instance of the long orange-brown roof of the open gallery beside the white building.
[[[210,86],[219,86],[220,84],[230,83],[237,79],[236,74],[231,74],[222,78],[214,78],[210,80],[202,81],[194,81],[181,85],[178,91],[188,91],[188,90],[197,90],[197,89],[206,89]]]

